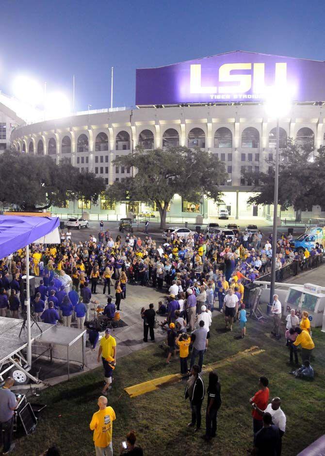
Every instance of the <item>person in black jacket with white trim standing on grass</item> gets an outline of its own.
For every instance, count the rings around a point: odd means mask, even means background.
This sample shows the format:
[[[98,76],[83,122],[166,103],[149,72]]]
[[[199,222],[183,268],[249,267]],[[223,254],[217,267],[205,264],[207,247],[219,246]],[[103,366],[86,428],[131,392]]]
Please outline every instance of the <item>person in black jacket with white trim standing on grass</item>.
[[[189,427],[195,426],[195,431],[201,429],[201,407],[205,395],[205,386],[200,375],[201,368],[197,364],[192,366],[190,378],[187,380],[184,397],[190,398],[192,421]]]

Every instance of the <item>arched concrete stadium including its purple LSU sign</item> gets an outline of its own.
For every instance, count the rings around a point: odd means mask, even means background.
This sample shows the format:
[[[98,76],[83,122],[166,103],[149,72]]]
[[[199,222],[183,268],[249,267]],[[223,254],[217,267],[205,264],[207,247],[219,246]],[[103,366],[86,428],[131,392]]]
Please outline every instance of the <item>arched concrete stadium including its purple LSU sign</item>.
[[[280,119],[279,146],[287,138],[298,144],[325,144],[325,62],[235,51],[158,68],[136,70],[136,100],[131,108],[89,110],[73,115],[27,123],[0,102],[0,142],[9,139],[24,153],[48,154],[59,162],[67,158],[80,172],[92,171],[107,185],[130,176],[130,169],[115,167],[117,156],[169,146],[205,148],[225,163],[228,179],[222,186],[224,204],[202,199],[201,204],[175,195],[168,217],[184,220],[202,215],[218,217],[227,208],[235,219],[272,216],[272,207],[247,203],[252,182],[244,171],[267,172],[276,147],[276,119],[265,113],[263,99],[268,87],[292,88],[292,107]],[[8,104],[8,103],[7,103]],[[1,127],[2,126],[2,127]],[[11,128],[10,128],[11,127]],[[5,148],[5,142],[0,148]],[[310,157],[312,160],[313,157]],[[128,201],[115,204],[103,197],[97,205],[67,201],[52,208],[58,215],[88,212],[89,218],[113,220],[128,212],[158,215],[156,208]],[[312,206],[303,218],[325,217],[325,208]],[[294,211],[281,212],[293,218]]]

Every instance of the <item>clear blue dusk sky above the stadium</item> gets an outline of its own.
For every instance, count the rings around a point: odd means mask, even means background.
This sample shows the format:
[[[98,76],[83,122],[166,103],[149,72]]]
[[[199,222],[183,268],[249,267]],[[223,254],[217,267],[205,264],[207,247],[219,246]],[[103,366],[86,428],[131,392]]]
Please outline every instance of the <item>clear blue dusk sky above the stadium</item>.
[[[135,102],[135,69],[231,50],[325,60],[325,3],[275,1],[1,1],[0,90],[28,74],[76,108]]]

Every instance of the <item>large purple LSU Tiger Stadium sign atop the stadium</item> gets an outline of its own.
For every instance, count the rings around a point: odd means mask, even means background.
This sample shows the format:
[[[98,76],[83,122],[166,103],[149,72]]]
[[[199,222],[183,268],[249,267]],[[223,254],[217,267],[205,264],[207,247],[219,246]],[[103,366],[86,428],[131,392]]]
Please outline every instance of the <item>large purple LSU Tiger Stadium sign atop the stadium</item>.
[[[235,51],[136,70],[137,106],[248,102],[269,87],[289,87],[293,101],[325,101],[325,62]]]

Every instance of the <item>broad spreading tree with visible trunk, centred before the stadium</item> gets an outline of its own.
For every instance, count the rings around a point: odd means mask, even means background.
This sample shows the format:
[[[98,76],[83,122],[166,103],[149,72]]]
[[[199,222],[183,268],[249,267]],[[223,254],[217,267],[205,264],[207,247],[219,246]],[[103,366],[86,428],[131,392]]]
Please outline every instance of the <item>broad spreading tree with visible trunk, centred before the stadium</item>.
[[[142,201],[157,206],[164,228],[167,207],[175,194],[198,203],[203,195],[218,202],[219,186],[227,179],[225,166],[216,155],[199,148],[170,147],[120,156],[117,166],[133,167],[133,176],[114,182],[107,190],[112,200]]]

